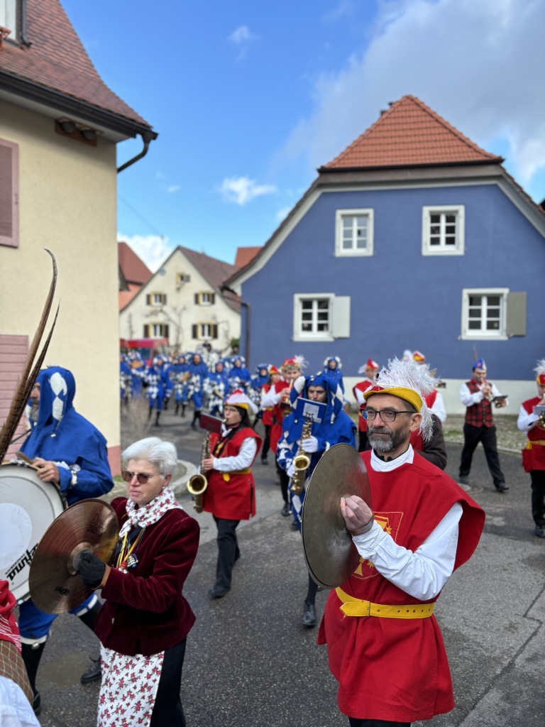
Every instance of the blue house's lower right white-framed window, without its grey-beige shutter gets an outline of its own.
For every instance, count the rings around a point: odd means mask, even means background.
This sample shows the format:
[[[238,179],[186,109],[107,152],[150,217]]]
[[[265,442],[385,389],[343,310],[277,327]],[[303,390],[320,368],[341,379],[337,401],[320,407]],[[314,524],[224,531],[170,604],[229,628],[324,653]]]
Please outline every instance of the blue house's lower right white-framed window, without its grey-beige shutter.
[[[505,340],[509,288],[462,291],[461,337]]]

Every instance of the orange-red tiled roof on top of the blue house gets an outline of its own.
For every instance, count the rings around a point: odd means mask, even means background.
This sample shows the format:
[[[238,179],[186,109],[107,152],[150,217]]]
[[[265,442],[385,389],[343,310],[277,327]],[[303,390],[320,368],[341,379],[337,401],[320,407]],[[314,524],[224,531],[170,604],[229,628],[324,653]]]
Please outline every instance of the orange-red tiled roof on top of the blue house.
[[[504,161],[481,149],[414,96],[403,96],[320,171]]]

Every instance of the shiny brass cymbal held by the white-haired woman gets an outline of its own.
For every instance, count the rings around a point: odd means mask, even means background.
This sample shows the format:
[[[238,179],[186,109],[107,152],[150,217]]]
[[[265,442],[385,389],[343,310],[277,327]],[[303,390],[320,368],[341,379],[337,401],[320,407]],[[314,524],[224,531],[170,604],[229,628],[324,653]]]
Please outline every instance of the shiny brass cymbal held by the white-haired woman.
[[[86,499],[68,507],[45,531],[32,559],[28,585],[36,606],[62,614],[83,603],[93,589],[84,586],[74,558],[88,548],[108,563],[117,539],[117,515],[108,503]]]

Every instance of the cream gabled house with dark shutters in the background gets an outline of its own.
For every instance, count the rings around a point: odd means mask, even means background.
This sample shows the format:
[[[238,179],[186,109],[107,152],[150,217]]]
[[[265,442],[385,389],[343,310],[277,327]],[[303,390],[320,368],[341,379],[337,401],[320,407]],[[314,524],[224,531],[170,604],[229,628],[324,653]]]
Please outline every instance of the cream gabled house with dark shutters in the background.
[[[241,334],[240,304],[222,283],[238,270],[203,252],[177,247],[119,313],[124,339],[168,338],[174,350],[210,342],[219,351]]]

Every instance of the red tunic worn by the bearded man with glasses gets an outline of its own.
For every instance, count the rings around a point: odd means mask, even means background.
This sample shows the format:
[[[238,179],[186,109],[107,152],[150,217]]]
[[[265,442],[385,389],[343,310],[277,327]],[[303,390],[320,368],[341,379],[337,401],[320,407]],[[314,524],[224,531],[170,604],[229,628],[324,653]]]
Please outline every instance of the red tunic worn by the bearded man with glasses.
[[[464,512],[455,569],[469,559],[479,542],[485,513],[448,475],[418,454],[412,465],[388,473],[371,469],[370,451],[361,457],[371,483],[375,520],[397,545],[414,552],[454,503],[460,502]],[[342,590],[372,603],[422,603],[363,559]],[[345,715],[415,722],[453,708],[451,672],[435,616],[410,620],[344,616],[340,606],[332,591],[318,643],[328,645],[331,672],[339,681],[339,709]]]

